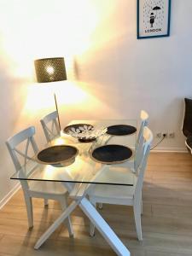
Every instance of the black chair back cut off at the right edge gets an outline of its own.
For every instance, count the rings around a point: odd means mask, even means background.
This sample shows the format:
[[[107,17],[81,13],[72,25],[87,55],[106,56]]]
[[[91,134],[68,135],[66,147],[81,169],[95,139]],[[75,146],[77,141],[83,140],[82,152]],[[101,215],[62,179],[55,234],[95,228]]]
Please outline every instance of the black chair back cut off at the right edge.
[[[185,137],[192,136],[192,99],[184,99],[182,131]]]

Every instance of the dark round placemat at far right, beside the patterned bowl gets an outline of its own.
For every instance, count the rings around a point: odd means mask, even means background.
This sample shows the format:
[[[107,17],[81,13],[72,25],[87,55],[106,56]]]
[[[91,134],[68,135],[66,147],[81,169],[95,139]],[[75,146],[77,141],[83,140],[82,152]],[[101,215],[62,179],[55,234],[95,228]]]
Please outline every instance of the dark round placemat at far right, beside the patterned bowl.
[[[137,131],[136,127],[131,125],[112,125],[108,126],[108,131],[106,133],[110,135],[130,135]]]

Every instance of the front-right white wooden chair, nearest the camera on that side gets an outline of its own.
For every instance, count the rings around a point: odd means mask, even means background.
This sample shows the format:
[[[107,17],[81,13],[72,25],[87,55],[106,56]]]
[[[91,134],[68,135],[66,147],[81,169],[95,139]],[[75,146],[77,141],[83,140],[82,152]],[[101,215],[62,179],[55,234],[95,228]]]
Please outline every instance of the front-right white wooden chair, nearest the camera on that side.
[[[125,178],[127,175],[132,175],[134,180],[133,186],[115,186],[115,185],[99,185],[96,184],[89,192],[89,199],[93,206],[96,207],[96,203],[107,203],[114,205],[132,206],[134,211],[134,217],[136,222],[137,237],[138,240],[143,240],[142,225],[141,225],[141,213],[142,213],[142,189],[144,172],[147,166],[148,154],[150,151],[150,145],[153,140],[153,134],[148,127],[143,128],[143,136],[141,137],[140,144],[141,150],[137,151],[137,172],[132,173],[129,167],[114,165],[106,166],[105,172],[103,172],[103,182],[105,177],[111,177],[113,180],[119,179],[119,173]],[[125,173],[125,175],[124,175]],[[101,180],[101,177],[100,177]],[[94,236],[95,227],[90,224],[90,236]]]

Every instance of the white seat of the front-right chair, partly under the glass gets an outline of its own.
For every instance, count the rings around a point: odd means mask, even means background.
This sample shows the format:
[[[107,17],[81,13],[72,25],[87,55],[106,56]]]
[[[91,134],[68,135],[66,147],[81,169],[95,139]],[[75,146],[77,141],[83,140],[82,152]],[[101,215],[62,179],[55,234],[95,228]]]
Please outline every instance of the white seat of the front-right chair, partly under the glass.
[[[99,180],[103,180],[104,182],[111,183],[125,183],[127,177],[131,177],[130,183],[134,183],[133,186],[119,186],[119,185],[100,185],[96,184],[93,189],[90,189],[89,196],[94,197],[96,201],[104,202],[104,201],[124,201],[133,199],[135,185],[137,183],[137,176],[131,172],[131,169],[124,166],[125,164],[116,166],[108,166],[104,172],[102,172],[102,177],[99,177]],[[127,173],[131,173],[132,176],[128,176]],[[116,202],[117,203],[117,202]],[[115,203],[115,204],[116,204]]]

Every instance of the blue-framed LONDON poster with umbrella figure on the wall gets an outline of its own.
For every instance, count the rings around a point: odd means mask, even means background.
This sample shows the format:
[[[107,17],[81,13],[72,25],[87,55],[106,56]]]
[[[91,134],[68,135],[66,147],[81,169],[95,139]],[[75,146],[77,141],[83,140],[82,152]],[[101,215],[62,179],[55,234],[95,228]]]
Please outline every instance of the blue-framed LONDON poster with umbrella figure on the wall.
[[[171,0],[137,0],[137,39],[169,37]]]

